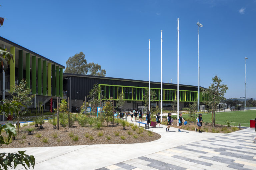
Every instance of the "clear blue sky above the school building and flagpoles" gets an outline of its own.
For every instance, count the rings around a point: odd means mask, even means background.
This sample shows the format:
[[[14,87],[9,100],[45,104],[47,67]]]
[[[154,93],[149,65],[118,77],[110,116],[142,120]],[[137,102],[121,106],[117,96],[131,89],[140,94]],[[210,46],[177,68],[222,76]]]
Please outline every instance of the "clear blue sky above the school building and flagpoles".
[[[180,84],[197,85],[200,28],[200,86],[218,75],[229,90],[226,98],[255,98],[256,0],[2,1],[7,18],[0,36],[62,65],[80,51],[106,76],[177,83],[177,18],[180,18]]]

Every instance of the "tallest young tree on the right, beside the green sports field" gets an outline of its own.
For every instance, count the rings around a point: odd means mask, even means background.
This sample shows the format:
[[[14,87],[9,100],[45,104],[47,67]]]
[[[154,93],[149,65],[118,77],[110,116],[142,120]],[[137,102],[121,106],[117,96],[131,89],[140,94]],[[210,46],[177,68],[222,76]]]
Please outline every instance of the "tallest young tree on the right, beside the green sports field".
[[[204,91],[205,94],[208,94],[209,99],[204,101],[208,106],[212,109],[212,127],[215,127],[215,113],[217,112],[217,105],[219,105],[220,101],[225,100],[224,94],[228,90],[228,86],[226,84],[222,84],[221,78],[217,75],[212,78],[212,83]]]

